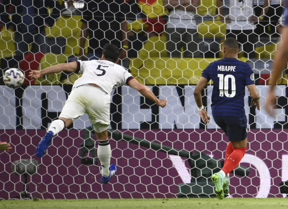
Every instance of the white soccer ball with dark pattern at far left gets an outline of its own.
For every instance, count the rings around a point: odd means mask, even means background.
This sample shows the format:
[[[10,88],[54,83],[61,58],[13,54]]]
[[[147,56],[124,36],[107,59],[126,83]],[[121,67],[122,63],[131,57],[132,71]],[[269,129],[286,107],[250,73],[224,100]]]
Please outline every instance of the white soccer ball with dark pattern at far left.
[[[17,68],[10,68],[5,71],[3,75],[3,81],[5,85],[10,88],[17,88],[24,82],[24,75],[21,70]]]

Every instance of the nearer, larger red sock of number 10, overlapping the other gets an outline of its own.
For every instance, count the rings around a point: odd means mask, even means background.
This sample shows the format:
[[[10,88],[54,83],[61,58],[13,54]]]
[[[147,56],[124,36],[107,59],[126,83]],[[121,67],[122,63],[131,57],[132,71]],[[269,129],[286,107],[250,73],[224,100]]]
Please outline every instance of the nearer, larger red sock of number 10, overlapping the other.
[[[221,170],[224,171],[226,175],[233,171],[239,165],[241,159],[244,157],[245,152],[246,147],[233,148],[233,152],[229,154]]]

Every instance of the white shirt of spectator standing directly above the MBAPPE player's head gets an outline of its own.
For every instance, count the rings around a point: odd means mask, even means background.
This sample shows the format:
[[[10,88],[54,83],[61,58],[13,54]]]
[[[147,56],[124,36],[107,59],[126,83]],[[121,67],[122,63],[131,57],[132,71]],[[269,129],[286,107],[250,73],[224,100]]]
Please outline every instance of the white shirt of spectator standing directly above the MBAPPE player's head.
[[[253,15],[253,0],[229,0],[229,8],[231,23],[227,23],[226,29],[253,30],[255,28],[255,23],[249,21]]]

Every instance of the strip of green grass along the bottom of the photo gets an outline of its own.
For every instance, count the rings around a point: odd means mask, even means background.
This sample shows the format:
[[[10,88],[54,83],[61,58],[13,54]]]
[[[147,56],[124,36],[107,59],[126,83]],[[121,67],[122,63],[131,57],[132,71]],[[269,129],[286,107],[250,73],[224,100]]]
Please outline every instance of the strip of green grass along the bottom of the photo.
[[[4,209],[278,209],[288,208],[286,198],[216,198],[200,199],[56,199],[2,200]]]

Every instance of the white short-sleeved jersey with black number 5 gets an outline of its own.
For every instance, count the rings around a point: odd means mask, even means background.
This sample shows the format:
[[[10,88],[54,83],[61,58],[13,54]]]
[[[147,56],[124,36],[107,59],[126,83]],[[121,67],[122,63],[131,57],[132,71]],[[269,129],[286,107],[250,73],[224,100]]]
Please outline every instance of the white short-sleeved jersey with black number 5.
[[[76,73],[82,76],[74,82],[73,88],[87,83],[100,86],[107,94],[121,85],[129,85],[134,77],[119,64],[107,60],[76,61]]]

